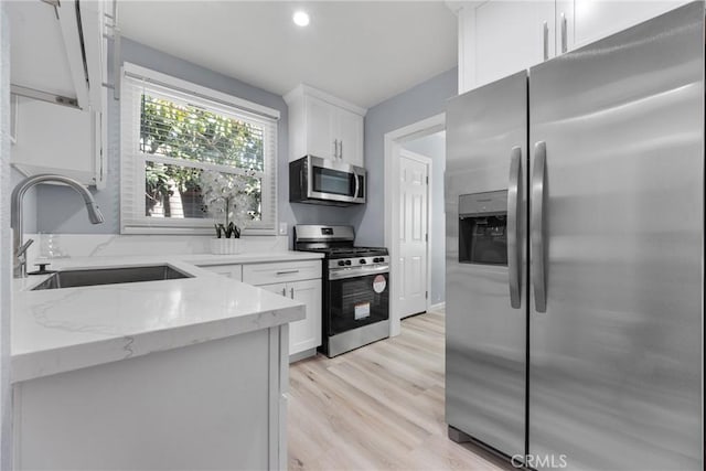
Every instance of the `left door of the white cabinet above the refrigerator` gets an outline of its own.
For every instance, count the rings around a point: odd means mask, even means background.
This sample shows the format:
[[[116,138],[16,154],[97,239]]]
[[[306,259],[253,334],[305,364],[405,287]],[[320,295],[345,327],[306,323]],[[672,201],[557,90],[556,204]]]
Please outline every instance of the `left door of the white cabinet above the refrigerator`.
[[[547,54],[555,55],[554,1],[489,1],[467,20],[470,21],[466,21],[463,34],[474,36],[463,51],[474,54],[470,71],[466,72],[471,74],[473,87],[543,62],[545,23]]]

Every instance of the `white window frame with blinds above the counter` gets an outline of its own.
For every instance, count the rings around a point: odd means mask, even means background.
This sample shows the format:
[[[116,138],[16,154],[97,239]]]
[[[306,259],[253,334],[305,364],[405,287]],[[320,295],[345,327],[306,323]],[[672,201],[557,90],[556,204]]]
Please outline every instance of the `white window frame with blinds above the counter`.
[[[153,89],[159,98],[173,97],[174,103],[194,105],[222,116],[263,125],[263,221],[249,224],[243,235],[276,235],[279,110],[127,62],[122,65],[120,77],[120,234],[215,236],[214,222],[207,217],[169,218],[145,215],[145,162],[181,163],[176,158],[145,154],[139,149],[141,90],[147,88]],[[216,163],[184,163],[184,167],[224,170],[234,174],[243,172],[243,169]]]

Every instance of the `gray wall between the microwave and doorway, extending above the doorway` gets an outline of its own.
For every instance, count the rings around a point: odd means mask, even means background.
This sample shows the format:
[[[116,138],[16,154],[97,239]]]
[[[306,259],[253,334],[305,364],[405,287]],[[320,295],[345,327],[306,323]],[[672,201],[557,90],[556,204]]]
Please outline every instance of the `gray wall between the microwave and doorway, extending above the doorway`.
[[[367,204],[356,218],[359,245],[382,246],[384,228],[384,136],[446,110],[446,101],[457,95],[454,67],[367,110],[365,115],[365,168],[368,175]]]

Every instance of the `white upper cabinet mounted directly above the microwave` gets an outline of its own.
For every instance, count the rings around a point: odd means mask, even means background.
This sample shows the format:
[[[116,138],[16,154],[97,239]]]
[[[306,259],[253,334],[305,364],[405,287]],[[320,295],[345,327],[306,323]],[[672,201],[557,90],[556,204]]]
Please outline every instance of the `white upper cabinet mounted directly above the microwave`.
[[[289,160],[306,154],[363,167],[366,110],[307,85],[285,95],[289,106]]]

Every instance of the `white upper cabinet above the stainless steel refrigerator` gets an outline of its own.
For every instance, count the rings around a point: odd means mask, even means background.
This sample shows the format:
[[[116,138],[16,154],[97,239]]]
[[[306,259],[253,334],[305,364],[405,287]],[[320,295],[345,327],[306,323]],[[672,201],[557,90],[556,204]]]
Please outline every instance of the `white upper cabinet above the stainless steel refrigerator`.
[[[686,1],[550,0],[462,2],[459,93],[581,47]]]

